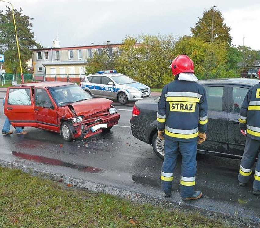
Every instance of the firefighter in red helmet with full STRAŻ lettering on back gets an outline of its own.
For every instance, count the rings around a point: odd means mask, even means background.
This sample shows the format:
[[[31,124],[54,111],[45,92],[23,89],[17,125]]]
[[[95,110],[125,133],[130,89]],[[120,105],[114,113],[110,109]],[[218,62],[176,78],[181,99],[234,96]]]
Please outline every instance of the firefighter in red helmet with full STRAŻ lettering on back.
[[[197,142],[206,140],[207,98],[203,86],[196,83],[194,65],[187,55],[177,56],[171,64],[174,81],[165,85],[157,113],[158,137],[164,141],[161,188],[171,196],[173,172],[179,151],[182,155],[181,196],[183,201],[199,199],[195,191]]]

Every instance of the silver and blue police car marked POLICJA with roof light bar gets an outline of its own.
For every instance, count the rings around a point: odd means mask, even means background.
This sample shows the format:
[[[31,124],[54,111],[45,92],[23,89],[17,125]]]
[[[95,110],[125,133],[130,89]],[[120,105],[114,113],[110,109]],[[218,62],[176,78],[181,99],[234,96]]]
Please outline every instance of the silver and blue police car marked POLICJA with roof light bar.
[[[148,86],[135,82],[116,70],[98,71],[86,75],[80,83],[81,88],[93,97],[104,97],[118,100],[121,104],[149,97],[151,90]]]

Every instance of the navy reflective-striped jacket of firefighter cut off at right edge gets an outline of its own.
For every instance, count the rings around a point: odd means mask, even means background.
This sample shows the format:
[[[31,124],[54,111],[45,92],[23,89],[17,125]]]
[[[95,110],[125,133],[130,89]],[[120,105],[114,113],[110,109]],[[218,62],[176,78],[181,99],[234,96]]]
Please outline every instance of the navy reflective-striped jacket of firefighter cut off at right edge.
[[[247,136],[260,140],[260,84],[247,91],[241,105],[239,116],[240,129],[247,130]]]

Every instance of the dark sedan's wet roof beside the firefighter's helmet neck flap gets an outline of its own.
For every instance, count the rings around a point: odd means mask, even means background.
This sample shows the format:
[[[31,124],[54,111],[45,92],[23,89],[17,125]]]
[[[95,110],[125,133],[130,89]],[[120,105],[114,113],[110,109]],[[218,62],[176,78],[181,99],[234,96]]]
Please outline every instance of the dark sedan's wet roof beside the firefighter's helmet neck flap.
[[[206,79],[199,80],[199,84],[239,84],[239,85],[255,85],[259,83],[258,79],[251,78],[215,78],[215,79]]]

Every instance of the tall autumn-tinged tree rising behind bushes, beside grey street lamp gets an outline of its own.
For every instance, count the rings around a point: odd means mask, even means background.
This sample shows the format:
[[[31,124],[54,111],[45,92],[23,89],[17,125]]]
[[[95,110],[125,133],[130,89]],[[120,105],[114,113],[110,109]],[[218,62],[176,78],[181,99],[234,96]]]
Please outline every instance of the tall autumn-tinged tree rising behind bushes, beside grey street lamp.
[[[199,18],[198,22],[195,23],[195,27],[191,28],[194,37],[198,37],[204,42],[211,43],[212,16],[213,9],[204,11],[202,18]],[[224,23],[221,12],[214,10],[213,42],[230,45],[232,41],[232,37],[229,34],[230,28],[231,27],[228,27]]]

